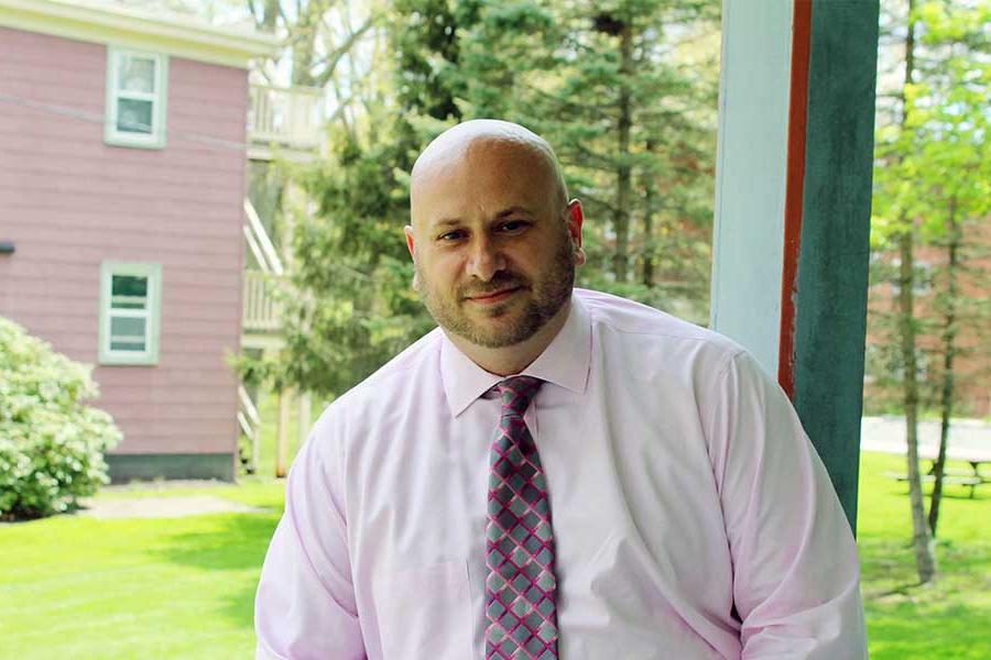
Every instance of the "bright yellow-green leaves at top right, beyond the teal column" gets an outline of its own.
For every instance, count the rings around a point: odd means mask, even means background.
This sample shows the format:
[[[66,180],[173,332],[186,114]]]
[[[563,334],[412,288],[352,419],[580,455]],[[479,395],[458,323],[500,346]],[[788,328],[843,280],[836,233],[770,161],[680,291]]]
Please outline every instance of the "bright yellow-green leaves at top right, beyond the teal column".
[[[945,0],[916,8],[919,40],[913,79],[903,87],[901,121],[882,124],[875,141],[872,243],[918,226],[921,238],[946,233],[946,210],[955,200],[961,218],[991,212],[988,135],[988,44],[980,38],[991,20],[988,3],[954,7]]]

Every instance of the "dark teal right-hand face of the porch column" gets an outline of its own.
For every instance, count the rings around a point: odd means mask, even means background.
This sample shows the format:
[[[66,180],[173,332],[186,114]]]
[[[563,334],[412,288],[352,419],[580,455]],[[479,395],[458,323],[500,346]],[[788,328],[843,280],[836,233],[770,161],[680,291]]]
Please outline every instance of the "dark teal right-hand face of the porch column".
[[[876,0],[812,4],[794,287],[793,402],[851,526],[860,464],[878,11]]]

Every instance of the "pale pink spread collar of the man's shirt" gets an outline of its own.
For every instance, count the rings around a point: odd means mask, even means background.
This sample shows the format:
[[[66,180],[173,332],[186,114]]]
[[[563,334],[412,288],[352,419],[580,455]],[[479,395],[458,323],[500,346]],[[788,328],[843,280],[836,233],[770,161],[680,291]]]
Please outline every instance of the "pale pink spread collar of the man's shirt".
[[[581,394],[588,383],[591,364],[591,322],[578,296],[571,295],[570,307],[560,331],[521,375],[535,376]],[[446,333],[442,333],[440,380],[454,417],[505,377],[477,365],[451,343]]]

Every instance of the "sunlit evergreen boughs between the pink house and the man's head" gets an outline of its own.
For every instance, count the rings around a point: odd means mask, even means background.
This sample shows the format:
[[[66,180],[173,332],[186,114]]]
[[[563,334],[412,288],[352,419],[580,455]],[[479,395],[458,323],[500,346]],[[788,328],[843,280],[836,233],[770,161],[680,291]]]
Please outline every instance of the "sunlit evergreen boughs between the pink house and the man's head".
[[[395,145],[345,134],[335,156],[303,182],[317,213],[293,235],[292,282],[305,294],[285,300],[286,350],[306,356],[286,364],[286,377],[322,394],[347,389],[433,327],[410,286]]]

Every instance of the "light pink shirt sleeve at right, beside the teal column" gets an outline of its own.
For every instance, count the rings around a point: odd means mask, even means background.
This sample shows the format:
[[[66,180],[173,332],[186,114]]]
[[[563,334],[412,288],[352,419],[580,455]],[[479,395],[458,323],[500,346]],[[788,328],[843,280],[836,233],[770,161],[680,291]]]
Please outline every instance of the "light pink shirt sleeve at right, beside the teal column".
[[[744,660],[867,658],[857,547],[791,402],[738,353],[711,441]]]

